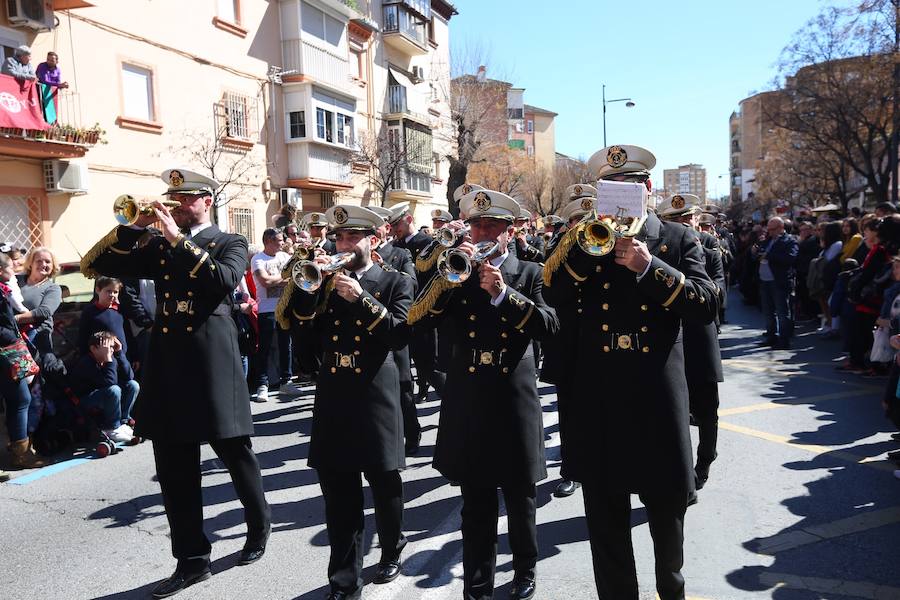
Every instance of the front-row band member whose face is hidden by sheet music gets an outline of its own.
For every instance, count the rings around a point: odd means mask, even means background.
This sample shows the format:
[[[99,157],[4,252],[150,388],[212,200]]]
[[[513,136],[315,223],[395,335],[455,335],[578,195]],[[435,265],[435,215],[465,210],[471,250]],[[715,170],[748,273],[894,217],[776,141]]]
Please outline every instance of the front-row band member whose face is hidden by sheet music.
[[[610,146],[589,167],[599,179],[648,185],[653,155]],[[598,191],[599,194],[599,191]],[[547,258],[544,294],[576,315],[560,409],[563,460],[581,481],[598,595],[637,600],[631,494],[647,509],[662,600],[684,598],[684,514],[694,490],[681,322],[709,323],[716,292],[691,230],[653,213],[634,237],[594,256],[566,232]]]

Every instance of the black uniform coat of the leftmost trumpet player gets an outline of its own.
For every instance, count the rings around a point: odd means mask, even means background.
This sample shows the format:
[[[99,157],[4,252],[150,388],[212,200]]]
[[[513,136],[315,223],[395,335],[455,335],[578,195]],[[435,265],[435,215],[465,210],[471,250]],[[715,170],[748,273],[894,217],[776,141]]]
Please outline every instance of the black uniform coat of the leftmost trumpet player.
[[[247,270],[247,240],[211,225],[175,247],[162,236],[136,247],[143,233],[117,227],[81,262],[89,277],[156,282],[135,433],[172,443],[253,433],[231,317],[234,289]]]

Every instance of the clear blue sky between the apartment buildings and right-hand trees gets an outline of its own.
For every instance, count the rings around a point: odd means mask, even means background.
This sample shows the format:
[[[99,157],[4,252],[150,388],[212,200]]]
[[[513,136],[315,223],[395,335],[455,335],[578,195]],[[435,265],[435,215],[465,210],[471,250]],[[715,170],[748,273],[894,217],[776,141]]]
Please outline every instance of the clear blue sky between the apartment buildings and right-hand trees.
[[[835,2],[837,3],[837,2]],[[609,144],[636,144],[662,170],[707,169],[711,195],[728,193],[728,117],[771,89],[775,63],[820,0],[455,0],[451,52],[481,45],[488,77],[525,88],[525,102],[559,113],[556,150],[587,158],[603,147],[601,85]],[[719,175],[724,176],[719,179]],[[718,189],[717,189],[718,188]]]

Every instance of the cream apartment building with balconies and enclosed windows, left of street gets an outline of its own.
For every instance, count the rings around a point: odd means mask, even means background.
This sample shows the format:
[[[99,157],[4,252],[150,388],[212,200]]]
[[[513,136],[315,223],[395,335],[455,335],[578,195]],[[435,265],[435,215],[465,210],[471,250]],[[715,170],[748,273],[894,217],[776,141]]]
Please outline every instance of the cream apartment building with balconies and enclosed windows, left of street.
[[[158,197],[181,164],[227,182],[219,225],[258,242],[286,202],[380,202],[352,157],[383,127],[408,157],[388,204],[412,201],[423,222],[446,204],[449,2],[5,4],[4,57],[56,51],[70,87],[48,132],[0,129],[0,241],[77,260],[114,226],[118,195]]]

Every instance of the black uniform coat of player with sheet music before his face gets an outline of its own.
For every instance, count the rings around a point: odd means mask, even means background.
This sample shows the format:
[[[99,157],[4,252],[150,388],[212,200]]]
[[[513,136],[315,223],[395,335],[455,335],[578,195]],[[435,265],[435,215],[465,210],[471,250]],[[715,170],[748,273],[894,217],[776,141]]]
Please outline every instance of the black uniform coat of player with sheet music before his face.
[[[640,281],[562,239],[548,258],[547,302],[561,313],[563,460],[576,481],[614,492],[693,488],[681,321],[709,323],[718,305],[692,230],[647,217],[638,238],[652,255]],[[561,263],[558,261],[561,260]],[[558,264],[557,264],[558,263]],[[556,265],[554,269],[553,266]]]

